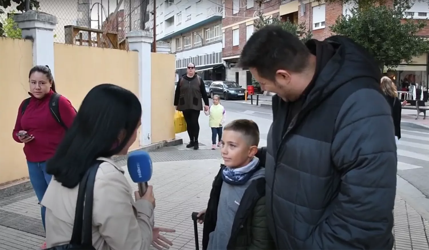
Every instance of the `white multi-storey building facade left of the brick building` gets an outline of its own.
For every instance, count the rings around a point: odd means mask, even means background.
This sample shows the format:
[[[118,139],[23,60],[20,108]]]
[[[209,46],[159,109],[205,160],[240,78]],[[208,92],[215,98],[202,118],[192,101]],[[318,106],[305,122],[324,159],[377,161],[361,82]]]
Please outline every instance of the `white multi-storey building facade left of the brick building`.
[[[165,0],[157,4],[157,41],[170,43],[176,55],[176,80],[193,62],[204,80],[224,80],[223,6],[220,0]]]

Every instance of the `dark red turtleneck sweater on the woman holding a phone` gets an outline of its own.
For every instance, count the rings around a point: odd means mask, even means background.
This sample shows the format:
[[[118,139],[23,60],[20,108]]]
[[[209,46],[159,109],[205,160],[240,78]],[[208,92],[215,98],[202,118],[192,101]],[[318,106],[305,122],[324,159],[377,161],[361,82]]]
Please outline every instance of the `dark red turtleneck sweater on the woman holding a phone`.
[[[49,100],[53,93],[51,90],[41,99],[37,99],[30,94],[30,103],[25,109],[24,115],[21,115],[24,101],[19,105],[12,136],[18,143],[21,143],[21,141],[16,136],[16,133],[20,130],[27,131],[27,134],[34,136],[33,140],[24,145],[24,154],[27,161],[46,161],[54,156],[55,150],[66,132],[49,110]],[[64,124],[70,127],[76,116],[72,104],[67,98],[61,96],[58,100],[58,108]]]

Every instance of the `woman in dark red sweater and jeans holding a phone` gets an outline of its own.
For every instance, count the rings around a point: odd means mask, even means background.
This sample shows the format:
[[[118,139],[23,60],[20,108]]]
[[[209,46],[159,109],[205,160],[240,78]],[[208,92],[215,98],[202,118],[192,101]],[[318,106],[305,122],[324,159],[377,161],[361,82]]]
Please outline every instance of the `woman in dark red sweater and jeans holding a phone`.
[[[16,142],[24,143],[30,182],[40,202],[51,181],[51,176],[46,173],[46,161],[54,156],[66,128],[76,116],[76,110],[67,98],[55,92],[48,66],[34,66],[28,78],[30,98],[19,106],[12,136]],[[45,227],[44,207],[41,214]]]

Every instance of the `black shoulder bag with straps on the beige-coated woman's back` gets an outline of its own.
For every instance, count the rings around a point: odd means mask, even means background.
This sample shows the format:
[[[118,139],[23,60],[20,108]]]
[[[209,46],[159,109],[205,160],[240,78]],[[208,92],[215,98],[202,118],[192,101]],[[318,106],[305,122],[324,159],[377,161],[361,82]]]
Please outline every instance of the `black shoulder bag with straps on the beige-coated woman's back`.
[[[47,250],[95,250],[92,245],[92,206],[94,201],[94,182],[98,167],[103,161],[96,161],[86,171],[79,183],[73,234],[69,244],[47,248]]]

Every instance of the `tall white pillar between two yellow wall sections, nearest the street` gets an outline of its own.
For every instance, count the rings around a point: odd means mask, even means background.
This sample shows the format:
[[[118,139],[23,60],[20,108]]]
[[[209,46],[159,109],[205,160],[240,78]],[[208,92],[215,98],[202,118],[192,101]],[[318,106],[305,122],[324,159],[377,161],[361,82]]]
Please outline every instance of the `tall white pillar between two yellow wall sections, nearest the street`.
[[[130,51],[139,52],[139,99],[142,104],[141,146],[152,143],[151,134],[151,43],[153,36],[146,30],[133,30],[127,33]]]

